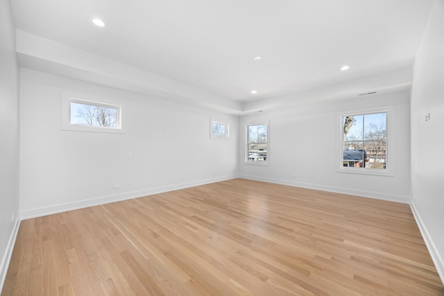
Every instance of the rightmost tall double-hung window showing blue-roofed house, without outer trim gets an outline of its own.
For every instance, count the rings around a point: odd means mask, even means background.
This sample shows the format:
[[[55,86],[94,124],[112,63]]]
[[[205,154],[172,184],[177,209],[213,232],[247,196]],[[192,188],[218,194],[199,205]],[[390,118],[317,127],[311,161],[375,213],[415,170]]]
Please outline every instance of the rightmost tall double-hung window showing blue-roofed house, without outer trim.
[[[388,168],[388,112],[342,116],[342,165],[361,170]]]

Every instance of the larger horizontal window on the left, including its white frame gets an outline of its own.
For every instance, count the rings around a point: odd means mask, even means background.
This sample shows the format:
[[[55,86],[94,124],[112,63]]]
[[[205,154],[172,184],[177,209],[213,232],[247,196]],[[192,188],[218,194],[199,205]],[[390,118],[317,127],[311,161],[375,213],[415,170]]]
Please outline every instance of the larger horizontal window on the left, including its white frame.
[[[122,106],[90,101],[86,95],[64,94],[62,129],[122,133]]]

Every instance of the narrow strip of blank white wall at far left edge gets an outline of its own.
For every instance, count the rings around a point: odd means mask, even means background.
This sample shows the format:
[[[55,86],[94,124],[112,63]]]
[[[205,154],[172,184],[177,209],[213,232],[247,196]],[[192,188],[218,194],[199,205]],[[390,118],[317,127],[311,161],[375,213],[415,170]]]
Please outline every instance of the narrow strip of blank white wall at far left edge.
[[[0,0],[0,291],[18,228],[19,68],[10,2]]]

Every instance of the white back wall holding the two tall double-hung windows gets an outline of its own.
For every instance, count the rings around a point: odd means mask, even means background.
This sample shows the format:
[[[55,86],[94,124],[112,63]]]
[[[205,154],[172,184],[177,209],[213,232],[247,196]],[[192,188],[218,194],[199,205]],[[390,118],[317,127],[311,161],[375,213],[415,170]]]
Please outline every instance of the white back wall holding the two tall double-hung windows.
[[[242,177],[398,202],[410,198],[410,94],[407,91],[264,112],[239,119]],[[336,172],[338,112],[394,106],[393,177]],[[270,166],[244,163],[245,125],[270,120]],[[393,147],[393,146],[392,146]],[[291,177],[294,175],[295,177]]]

